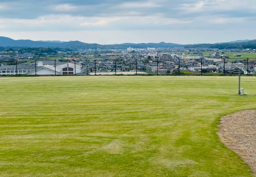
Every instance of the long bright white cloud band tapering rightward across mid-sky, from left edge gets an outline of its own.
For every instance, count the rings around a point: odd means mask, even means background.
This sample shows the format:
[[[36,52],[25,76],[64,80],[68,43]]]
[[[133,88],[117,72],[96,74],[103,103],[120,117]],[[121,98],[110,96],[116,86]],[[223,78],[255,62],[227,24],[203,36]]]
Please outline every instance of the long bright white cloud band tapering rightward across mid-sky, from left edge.
[[[191,20],[164,18],[162,14],[155,16],[120,16],[120,17],[82,17],[71,15],[47,15],[36,19],[0,19],[6,27],[44,27],[52,29],[53,27],[71,26],[77,30],[84,27],[95,27],[95,30],[104,29],[131,29],[131,27],[152,28],[162,27],[175,24],[189,24]],[[104,27],[104,28],[103,28]],[[106,29],[105,29],[106,30]]]

